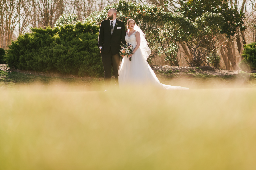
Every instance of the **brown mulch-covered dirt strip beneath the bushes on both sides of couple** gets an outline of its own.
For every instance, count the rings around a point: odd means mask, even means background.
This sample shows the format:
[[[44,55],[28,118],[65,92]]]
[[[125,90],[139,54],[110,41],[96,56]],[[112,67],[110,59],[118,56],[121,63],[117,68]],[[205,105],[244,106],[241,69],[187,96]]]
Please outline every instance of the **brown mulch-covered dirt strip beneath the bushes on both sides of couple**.
[[[168,73],[168,74],[184,74],[184,73],[198,73],[198,74],[207,74],[207,75],[217,75],[217,76],[224,76],[224,75],[235,75],[239,74],[241,70],[231,71],[231,70],[222,70],[219,68],[211,67],[211,66],[200,66],[200,67],[178,67],[178,66],[158,66],[152,65],[151,68],[154,72],[158,73]],[[38,72],[33,70],[19,70],[15,68],[9,68],[6,64],[0,64],[0,70],[5,72],[20,72],[24,74],[33,74],[38,76],[46,76],[46,77],[62,77],[62,78],[71,78],[77,77],[77,75],[72,74],[62,74],[58,72]],[[250,73],[256,73],[256,70],[251,71]],[[85,76],[84,76],[85,77]]]

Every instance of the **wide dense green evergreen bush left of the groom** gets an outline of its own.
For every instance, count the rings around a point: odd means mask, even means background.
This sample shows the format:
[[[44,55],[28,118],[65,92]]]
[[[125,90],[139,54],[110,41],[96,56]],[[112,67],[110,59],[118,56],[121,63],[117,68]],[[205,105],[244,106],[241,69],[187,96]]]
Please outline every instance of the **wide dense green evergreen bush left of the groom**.
[[[103,76],[97,47],[99,26],[89,23],[31,28],[9,46],[6,62],[23,70],[59,70],[83,76]]]

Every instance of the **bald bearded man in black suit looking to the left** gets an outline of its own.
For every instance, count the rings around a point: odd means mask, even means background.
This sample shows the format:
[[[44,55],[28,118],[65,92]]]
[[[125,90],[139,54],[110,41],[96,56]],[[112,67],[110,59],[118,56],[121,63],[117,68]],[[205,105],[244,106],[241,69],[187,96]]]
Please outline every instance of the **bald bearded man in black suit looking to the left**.
[[[119,55],[121,41],[125,44],[125,25],[116,19],[117,11],[115,8],[108,10],[106,20],[100,24],[98,47],[100,48],[101,59],[104,68],[105,85],[110,84],[111,66],[114,70],[115,82],[118,84],[118,69],[122,57]]]

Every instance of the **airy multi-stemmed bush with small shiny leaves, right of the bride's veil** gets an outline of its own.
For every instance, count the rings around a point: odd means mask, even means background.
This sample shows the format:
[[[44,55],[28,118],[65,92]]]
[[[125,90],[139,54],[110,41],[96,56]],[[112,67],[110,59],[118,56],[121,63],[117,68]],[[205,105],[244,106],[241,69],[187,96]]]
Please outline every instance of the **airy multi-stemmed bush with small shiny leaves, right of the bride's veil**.
[[[188,36],[181,39],[191,51],[192,60],[188,61],[190,66],[198,67],[207,63],[206,57],[215,53],[221,46],[223,40],[219,38],[225,20],[221,14],[206,12],[201,17],[191,21]]]

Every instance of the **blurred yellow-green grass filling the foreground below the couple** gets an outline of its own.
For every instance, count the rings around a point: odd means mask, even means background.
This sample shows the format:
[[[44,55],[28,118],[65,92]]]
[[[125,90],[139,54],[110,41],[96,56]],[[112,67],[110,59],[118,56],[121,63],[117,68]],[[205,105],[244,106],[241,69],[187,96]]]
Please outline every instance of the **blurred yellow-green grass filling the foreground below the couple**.
[[[255,88],[82,89],[0,89],[0,169],[256,167]]]

